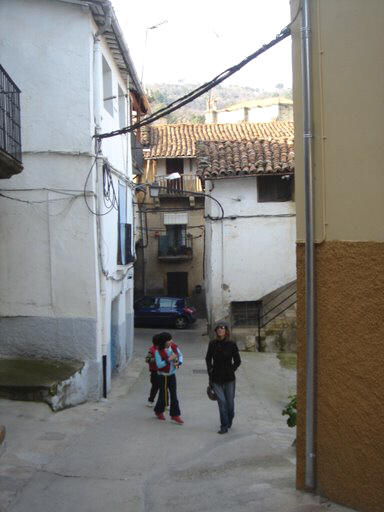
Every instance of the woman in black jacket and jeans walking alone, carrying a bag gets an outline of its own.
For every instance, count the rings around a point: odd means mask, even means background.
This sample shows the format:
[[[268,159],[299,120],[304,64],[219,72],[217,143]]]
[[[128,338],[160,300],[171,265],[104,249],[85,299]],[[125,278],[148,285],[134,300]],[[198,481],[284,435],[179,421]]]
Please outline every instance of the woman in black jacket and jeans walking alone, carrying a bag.
[[[220,430],[226,434],[235,416],[235,371],[241,364],[239,349],[229,339],[229,329],[224,323],[215,327],[216,339],[209,342],[205,361],[217,396],[220,413]]]

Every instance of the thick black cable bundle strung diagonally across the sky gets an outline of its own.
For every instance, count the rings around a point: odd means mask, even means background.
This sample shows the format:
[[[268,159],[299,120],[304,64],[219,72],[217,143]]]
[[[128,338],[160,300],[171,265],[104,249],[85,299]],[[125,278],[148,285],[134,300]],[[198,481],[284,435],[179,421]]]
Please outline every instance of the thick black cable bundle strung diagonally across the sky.
[[[283,41],[285,38],[290,36],[291,35],[290,27],[296,21],[296,18],[299,15],[300,10],[301,10],[301,2],[299,4],[296,15],[294,16],[292,21],[286,27],[284,27],[274,39],[272,39],[269,43],[266,43],[263,46],[261,46],[258,50],[256,50],[254,53],[252,53],[245,59],[243,59],[238,64],[226,69],[219,75],[215,76],[209,82],[204,83],[203,85],[197,87],[196,89],[189,92],[188,94],[173,101],[169,105],[157,110],[156,112],[154,112],[153,114],[148,116],[146,119],[143,119],[142,121],[140,121],[138,123],[134,123],[133,125],[127,126],[125,128],[121,128],[119,130],[114,130],[114,131],[108,132],[108,133],[97,134],[97,135],[95,135],[95,138],[98,140],[101,140],[101,139],[105,139],[105,138],[109,138],[109,137],[115,137],[116,135],[122,135],[124,133],[128,133],[133,130],[139,129],[143,126],[153,123],[154,121],[156,121],[157,119],[160,119],[161,117],[164,117],[165,115],[168,115],[168,114],[174,112],[175,110],[178,110],[182,106],[190,103],[191,101],[195,100],[199,96],[205,94],[210,89],[213,89],[214,87],[216,87],[217,85],[222,83],[224,80],[226,80],[227,78],[232,76],[234,73],[237,73],[241,68],[243,68],[249,62],[251,62],[253,59],[255,59],[256,57],[259,57],[261,54],[263,54],[267,50],[271,49],[273,46],[278,44],[280,41]]]

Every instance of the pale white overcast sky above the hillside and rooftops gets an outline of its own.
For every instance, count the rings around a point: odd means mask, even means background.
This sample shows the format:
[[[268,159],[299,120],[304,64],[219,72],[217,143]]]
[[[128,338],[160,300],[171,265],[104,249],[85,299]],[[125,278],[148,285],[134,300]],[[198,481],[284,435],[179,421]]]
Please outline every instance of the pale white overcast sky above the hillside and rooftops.
[[[274,39],[290,21],[289,0],[112,3],[144,83],[206,82]],[[149,28],[155,25],[159,26]],[[291,87],[291,81],[291,41],[287,38],[223,85],[271,89],[278,83]]]

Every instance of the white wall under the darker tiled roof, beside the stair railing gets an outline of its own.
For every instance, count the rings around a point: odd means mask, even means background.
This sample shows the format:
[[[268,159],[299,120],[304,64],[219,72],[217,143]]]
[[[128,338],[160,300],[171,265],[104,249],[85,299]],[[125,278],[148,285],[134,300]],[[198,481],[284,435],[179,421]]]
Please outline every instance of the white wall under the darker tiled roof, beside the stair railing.
[[[295,205],[258,203],[255,177],[206,182],[206,191],[225,214],[224,221],[206,221],[207,309],[214,323],[230,318],[232,301],[259,300],[295,279]],[[209,199],[206,214],[219,216]]]

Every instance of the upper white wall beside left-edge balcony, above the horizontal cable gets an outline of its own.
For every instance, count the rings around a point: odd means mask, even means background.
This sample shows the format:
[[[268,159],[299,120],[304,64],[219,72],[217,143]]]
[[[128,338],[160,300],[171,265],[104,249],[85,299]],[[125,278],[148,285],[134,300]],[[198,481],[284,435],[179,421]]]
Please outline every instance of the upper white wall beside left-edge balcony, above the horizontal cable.
[[[0,2],[1,61],[21,89],[23,150],[91,149],[89,15],[50,0]]]

